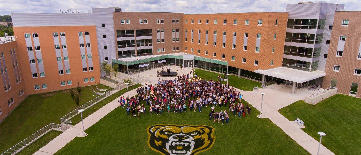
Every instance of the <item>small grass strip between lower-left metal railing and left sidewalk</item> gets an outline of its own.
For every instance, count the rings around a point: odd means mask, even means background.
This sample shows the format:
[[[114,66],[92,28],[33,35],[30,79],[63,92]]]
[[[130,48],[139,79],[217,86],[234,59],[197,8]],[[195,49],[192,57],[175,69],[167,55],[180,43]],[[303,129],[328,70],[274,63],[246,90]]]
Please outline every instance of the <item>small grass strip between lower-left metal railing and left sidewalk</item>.
[[[55,131],[55,130],[49,131],[47,134],[43,135],[35,142],[25,147],[17,155],[32,155],[36,151],[41,149],[43,146],[47,145],[55,137],[59,136],[61,133],[62,133],[61,131]]]

